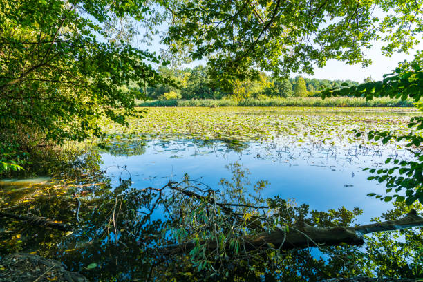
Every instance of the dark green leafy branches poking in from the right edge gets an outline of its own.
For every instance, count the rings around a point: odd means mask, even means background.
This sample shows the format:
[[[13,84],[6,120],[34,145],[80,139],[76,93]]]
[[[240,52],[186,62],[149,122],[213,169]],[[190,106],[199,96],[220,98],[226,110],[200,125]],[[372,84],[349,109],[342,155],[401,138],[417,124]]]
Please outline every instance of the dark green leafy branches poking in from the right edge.
[[[353,87],[335,87],[322,92],[322,97],[335,97],[337,95],[355,95],[372,100],[373,97],[397,97],[406,100],[408,97],[419,102],[423,96],[423,70],[422,53],[417,53],[412,62],[403,62],[398,68],[388,75],[384,80],[378,82],[366,82]],[[420,105],[420,104],[417,104]],[[421,106],[418,106],[422,110]],[[381,140],[386,144],[390,140],[406,141],[406,146],[413,153],[415,160],[393,160],[388,158],[386,164],[393,163],[394,167],[384,169],[370,169],[370,173],[377,173],[377,176],[370,176],[370,180],[386,182],[386,192],[395,192],[393,196],[382,196],[375,193],[369,196],[376,196],[386,202],[395,198],[397,201],[404,201],[407,205],[413,204],[416,200],[423,203],[423,152],[420,144],[423,142],[422,129],[423,118],[413,117],[408,123],[410,133],[394,133],[391,131],[370,131],[370,140]],[[357,132],[361,135],[361,132]],[[402,191],[402,194],[398,194]]]

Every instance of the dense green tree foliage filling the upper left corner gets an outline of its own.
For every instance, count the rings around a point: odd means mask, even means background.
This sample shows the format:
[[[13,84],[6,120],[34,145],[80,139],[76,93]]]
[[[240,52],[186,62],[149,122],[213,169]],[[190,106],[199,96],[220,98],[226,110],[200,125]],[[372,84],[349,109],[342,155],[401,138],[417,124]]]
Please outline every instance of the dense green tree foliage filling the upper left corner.
[[[137,86],[169,82],[148,64],[157,57],[130,44],[130,25],[110,26],[146,20],[144,1],[2,0],[0,7],[2,140],[34,132],[59,143],[101,136],[99,118],[126,124],[126,115],[142,115],[134,109],[143,97]]]

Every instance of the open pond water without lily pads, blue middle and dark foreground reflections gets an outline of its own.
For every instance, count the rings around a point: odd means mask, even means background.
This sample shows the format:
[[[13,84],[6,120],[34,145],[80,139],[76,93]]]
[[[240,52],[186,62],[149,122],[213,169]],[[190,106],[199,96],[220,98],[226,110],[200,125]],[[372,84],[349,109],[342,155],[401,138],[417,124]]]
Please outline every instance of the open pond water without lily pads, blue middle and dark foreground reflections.
[[[358,142],[344,132],[326,140],[313,134],[310,129],[260,142],[104,140],[98,151],[80,156],[57,178],[19,187],[3,185],[0,211],[68,223],[74,229],[65,233],[2,218],[0,256],[36,252],[63,261],[91,281],[318,281],[376,271],[381,276],[417,275],[422,270],[416,255],[422,247],[422,229],[400,233],[405,238],[400,243],[391,240],[391,234],[372,237],[366,250],[234,252],[239,236],[263,229],[299,222],[353,225],[369,223],[388,209],[393,209],[384,215],[388,219],[408,212],[404,205],[368,198],[367,193],[383,187],[367,181],[362,171],[378,167],[388,157],[407,159],[408,152],[397,144]],[[169,181],[176,181],[173,188]],[[188,197],[175,187],[201,197]],[[218,203],[270,209],[254,212],[237,206],[232,215],[221,209],[219,214],[211,197]],[[250,225],[256,218],[260,223]],[[231,252],[170,256],[158,251],[216,237]],[[404,252],[390,254],[395,248]],[[392,261],[412,267],[390,265]],[[95,267],[88,269],[93,263]]]

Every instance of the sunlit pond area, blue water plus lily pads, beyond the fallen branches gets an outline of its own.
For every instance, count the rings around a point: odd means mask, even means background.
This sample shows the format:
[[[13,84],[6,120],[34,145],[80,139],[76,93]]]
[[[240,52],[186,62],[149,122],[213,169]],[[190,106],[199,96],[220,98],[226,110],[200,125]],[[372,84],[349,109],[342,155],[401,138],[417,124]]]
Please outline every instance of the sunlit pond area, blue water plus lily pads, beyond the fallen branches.
[[[188,173],[218,189],[220,179],[230,177],[227,165],[238,162],[250,171],[252,183],[269,182],[265,198],[292,198],[318,210],[359,207],[364,213],[358,220],[366,223],[391,203],[367,196],[383,193],[384,185],[368,181],[363,169],[383,167],[386,158],[407,159],[410,153],[400,144],[356,138],[351,130],[404,131],[413,115],[404,109],[364,108],[149,109],[146,119],[123,129],[132,131],[131,137],[113,129],[124,137],[111,135],[102,169],[114,185],[128,173],[135,187],[161,187]],[[134,133],[138,130],[142,134]]]

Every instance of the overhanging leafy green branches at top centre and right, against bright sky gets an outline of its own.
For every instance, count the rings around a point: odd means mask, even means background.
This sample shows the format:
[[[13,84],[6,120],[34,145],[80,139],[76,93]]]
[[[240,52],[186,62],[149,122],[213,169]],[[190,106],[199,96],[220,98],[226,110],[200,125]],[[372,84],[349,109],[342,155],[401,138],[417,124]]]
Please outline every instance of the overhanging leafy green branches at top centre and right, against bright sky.
[[[169,7],[172,26],[164,43],[174,54],[208,58],[222,82],[313,73],[329,59],[370,64],[364,49],[382,37],[384,50],[407,51],[422,30],[421,1],[178,1]],[[373,12],[382,9],[386,14]],[[395,32],[389,32],[393,31]],[[388,33],[384,33],[388,32]],[[252,68],[254,67],[254,68]]]

